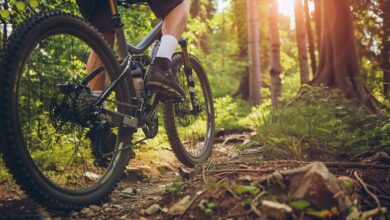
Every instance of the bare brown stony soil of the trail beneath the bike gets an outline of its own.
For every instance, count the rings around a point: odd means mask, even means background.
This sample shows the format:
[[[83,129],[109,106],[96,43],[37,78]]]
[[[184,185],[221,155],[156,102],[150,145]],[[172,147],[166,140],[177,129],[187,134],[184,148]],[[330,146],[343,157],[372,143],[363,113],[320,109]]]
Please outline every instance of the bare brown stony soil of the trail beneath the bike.
[[[274,171],[300,167],[308,161],[288,160],[291,159],[288,150],[267,151],[265,146],[253,142],[252,136],[254,133],[250,131],[221,134],[210,160],[191,170],[183,167],[168,148],[156,155],[138,156],[129,166],[141,170],[141,175],[135,178],[128,173],[107,203],[77,212],[47,210],[30,200],[15,183],[3,181],[0,182],[0,219],[213,219],[216,216],[254,219],[255,213],[243,204],[248,198],[235,195],[229,186],[256,182]],[[327,161],[325,164],[337,176],[352,177],[352,172],[358,171],[382,205],[390,207],[389,166],[346,163],[343,155],[321,147],[311,148],[302,155],[311,160]],[[224,187],[216,187],[218,185]],[[376,208],[364,190],[359,193],[361,209]],[[191,205],[184,214],[168,213],[185,197],[190,198]],[[216,208],[211,207],[211,212],[207,212],[205,207],[210,204]]]

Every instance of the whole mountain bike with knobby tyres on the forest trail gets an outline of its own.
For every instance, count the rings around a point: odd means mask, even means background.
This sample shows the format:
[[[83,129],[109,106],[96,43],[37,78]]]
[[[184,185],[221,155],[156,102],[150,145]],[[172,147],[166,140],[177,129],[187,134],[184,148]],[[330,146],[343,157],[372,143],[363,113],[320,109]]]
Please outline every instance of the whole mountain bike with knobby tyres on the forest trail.
[[[210,85],[199,60],[188,53],[187,41],[180,41],[181,52],[172,57],[186,96],[163,99],[144,82],[162,22],[133,46],[118,12],[118,6],[131,3],[109,1],[115,50],[83,19],[52,12],[16,28],[1,57],[4,162],[23,190],[50,208],[73,210],[105,201],[134,157],[132,148],[157,135],[159,105],[168,140],[184,165],[193,167],[212,151]],[[93,68],[87,67],[91,52],[100,59]],[[98,96],[89,88],[96,77],[105,78]],[[134,141],[136,132],[144,138]]]

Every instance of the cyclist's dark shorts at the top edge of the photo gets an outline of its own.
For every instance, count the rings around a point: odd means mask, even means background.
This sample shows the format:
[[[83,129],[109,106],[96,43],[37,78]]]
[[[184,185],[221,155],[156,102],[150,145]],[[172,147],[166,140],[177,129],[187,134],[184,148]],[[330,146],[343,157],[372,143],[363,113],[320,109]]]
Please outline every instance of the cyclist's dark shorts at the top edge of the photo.
[[[100,32],[112,31],[112,20],[108,0],[76,0],[83,17]],[[147,0],[158,18],[164,18],[183,0]]]

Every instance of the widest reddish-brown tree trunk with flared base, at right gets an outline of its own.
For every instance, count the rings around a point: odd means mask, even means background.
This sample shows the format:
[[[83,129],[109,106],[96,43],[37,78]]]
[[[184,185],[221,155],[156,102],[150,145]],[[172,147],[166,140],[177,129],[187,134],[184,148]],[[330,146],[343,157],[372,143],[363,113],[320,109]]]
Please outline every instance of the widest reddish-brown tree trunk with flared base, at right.
[[[320,62],[312,84],[338,87],[347,98],[381,114],[360,76],[349,0],[326,0],[321,26]]]

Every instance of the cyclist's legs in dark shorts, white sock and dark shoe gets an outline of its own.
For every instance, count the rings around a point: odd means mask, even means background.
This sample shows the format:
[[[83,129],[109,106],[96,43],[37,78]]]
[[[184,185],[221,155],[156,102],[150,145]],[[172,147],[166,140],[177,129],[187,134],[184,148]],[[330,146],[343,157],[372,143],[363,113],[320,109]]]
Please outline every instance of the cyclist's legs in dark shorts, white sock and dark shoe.
[[[141,0],[134,0],[141,1]],[[162,38],[156,58],[149,67],[146,76],[146,87],[152,92],[159,92],[165,97],[184,97],[184,91],[179,85],[172,70],[171,57],[175,52],[178,39],[184,32],[188,13],[188,0],[142,0],[146,1],[154,14],[163,19]],[[102,33],[112,46],[115,41],[111,12],[108,0],[77,0],[83,17]],[[95,53],[91,53],[87,71],[93,71],[101,65]],[[91,80],[89,87],[98,96],[104,89],[105,74],[100,74]]]

